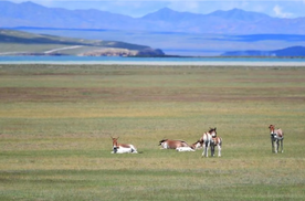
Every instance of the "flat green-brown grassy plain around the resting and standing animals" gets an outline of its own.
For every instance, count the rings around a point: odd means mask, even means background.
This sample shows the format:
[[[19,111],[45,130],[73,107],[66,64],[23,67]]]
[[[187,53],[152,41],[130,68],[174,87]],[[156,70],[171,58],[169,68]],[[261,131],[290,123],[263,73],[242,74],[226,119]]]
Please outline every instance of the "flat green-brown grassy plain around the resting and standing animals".
[[[0,200],[305,200],[305,67],[1,65],[0,96]],[[210,127],[221,158],[158,147]]]

